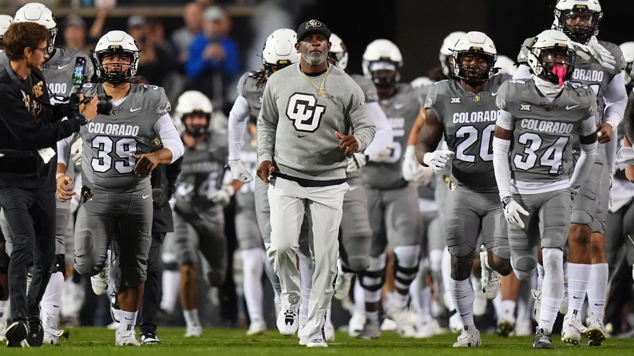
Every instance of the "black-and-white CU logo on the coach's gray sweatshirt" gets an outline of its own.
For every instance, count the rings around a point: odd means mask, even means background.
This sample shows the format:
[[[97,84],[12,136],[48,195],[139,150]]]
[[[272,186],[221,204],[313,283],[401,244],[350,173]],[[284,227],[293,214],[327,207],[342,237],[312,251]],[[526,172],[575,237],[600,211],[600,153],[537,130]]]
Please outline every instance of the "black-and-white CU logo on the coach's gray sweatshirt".
[[[326,106],[317,105],[317,98],[313,94],[295,92],[288,98],[286,116],[293,122],[295,130],[315,132],[325,111]]]

